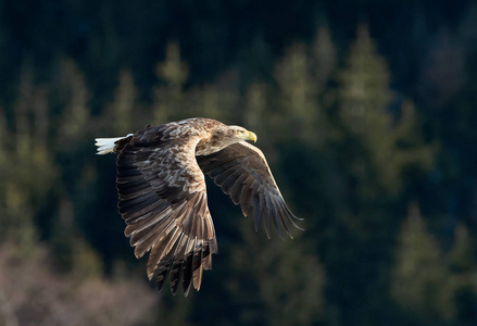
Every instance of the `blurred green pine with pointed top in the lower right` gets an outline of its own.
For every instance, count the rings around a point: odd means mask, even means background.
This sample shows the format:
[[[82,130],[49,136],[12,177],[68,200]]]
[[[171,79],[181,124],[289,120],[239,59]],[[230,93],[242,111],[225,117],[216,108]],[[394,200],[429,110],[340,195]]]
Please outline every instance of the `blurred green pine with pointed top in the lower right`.
[[[454,314],[452,284],[436,238],[428,233],[416,204],[398,239],[391,277],[391,294],[423,322],[449,321]]]

